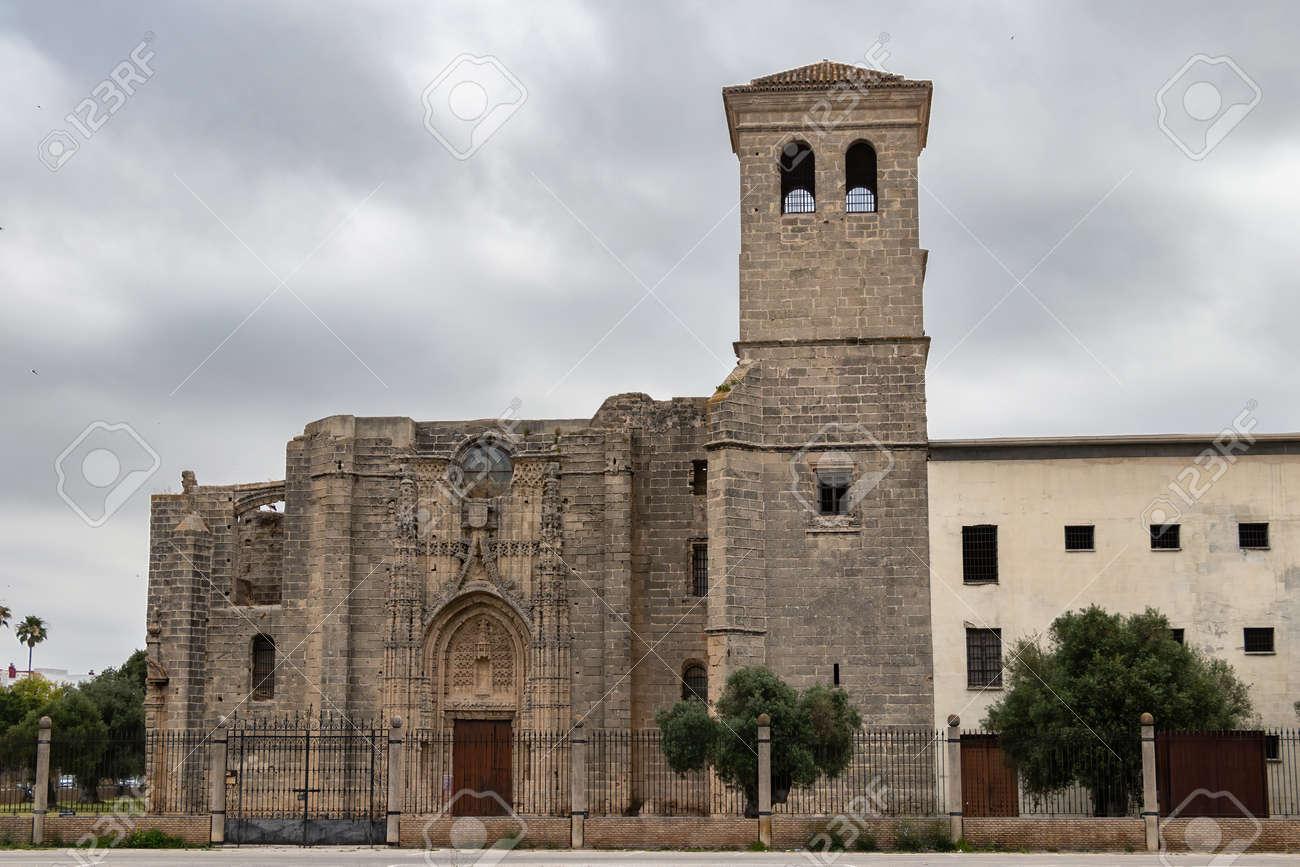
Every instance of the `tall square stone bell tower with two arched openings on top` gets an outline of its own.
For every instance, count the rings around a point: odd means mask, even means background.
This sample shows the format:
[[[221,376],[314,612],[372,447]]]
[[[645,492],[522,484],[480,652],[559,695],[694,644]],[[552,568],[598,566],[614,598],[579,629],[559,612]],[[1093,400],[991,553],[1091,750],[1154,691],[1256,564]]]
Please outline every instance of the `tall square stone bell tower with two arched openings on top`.
[[[829,61],[723,90],[740,339],[710,412],[711,692],[766,664],[844,686],[867,723],[933,719],[916,221],[931,90]]]

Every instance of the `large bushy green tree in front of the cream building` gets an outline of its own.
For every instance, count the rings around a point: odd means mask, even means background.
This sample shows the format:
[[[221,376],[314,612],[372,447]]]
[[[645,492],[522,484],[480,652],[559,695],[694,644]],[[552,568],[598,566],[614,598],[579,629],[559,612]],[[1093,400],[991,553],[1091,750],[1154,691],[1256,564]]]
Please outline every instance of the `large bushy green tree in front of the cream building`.
[[[1231,729],[1251,714],[1232,667],[1174,641],[1153,608],[1066,612],[1049,642],[1017,642],[1006,671],[1008,690],[984,727],[998,733],[1028,793],[1084,785],[1098,816],[1124,815],[1139,797],[1141,714],[1166,729]],[[1115,784],[1121,767],[1130,772]]]

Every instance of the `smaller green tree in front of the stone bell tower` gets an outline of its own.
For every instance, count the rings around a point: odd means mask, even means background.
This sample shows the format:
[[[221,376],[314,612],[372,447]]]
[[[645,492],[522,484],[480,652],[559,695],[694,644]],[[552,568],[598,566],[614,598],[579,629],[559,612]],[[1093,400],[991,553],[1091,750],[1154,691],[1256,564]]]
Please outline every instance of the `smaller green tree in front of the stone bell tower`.
[[[712,766],[718,779],[745,793],[745,811],[758,810],[758,715],[772,727],[772,801],[835,777],[853,759],[853,734],[862,718],[841,689],[812,686],[800,694],[767,668],[736,671],[718,698],[716,714],[703,702],[682,701],[655,716],[663,753],[677,773]]]

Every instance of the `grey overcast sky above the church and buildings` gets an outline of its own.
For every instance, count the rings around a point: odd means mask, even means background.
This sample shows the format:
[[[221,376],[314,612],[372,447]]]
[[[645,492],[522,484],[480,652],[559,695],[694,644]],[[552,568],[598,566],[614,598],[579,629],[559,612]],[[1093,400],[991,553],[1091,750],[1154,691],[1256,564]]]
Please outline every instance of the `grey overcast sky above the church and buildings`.
[[[526,417],[584,417],[620,391],[712,393],[737,329],[719,90],[823,57],[935,83],[932,437],[1213,432],[1248,400],[1260,430],[1295,430],[1297,19],[1280,3],[9,0],[0,599],[48,621],[36,666],[100,669],[143,643],[148,494],[182,469],[282,478],[286,441],[333,413],[484,417],[517,396]],[[1179,78],[1195,55],[1236,66]],[[114,70],[125,99],[99,87]],[[455,159],[421,95],[489,73],[493,100],[510,77],[526,99]],[[1171,79],[1184,147],[1157,123]],[[96,421],[161,465],[92,528],[55,464]],[[82,482],[73,499],[94,499]],[[0,666],[21,666],[5,634]]]

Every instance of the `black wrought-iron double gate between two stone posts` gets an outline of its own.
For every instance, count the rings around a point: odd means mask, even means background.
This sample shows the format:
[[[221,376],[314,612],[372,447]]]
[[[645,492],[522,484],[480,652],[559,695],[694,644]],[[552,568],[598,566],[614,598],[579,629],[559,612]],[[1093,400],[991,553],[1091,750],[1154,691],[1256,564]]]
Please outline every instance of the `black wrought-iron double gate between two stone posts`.
[[[226,842],[382,844],[386,768],[378,727],[233,729]]]

